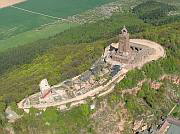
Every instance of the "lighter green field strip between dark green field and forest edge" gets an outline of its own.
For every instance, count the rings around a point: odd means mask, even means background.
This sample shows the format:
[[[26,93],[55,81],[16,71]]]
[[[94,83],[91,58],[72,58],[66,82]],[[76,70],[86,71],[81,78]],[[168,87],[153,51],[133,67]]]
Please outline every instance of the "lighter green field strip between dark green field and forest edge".
[[[0,40],[0,52],[3,52],[4,50],[7,50],[9,48],[29,44],[39,39],[48,38],[77,25],[78,24],[73,23],[58,23],[56,25],[50,25],[42,29],[23,32],[6,40]]]

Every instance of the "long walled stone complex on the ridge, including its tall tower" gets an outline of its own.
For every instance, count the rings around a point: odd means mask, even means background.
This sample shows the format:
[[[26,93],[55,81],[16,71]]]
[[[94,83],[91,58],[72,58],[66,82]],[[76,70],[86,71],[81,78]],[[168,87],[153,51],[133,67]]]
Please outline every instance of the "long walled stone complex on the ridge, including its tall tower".
[[[20,103],[19,108],[30,107],[46,109],[56,106],[62,109],[86,103],[88,98],[104,96],[113,91],[126,73],[145,63],[165,56],[163,47],[155,42],[141,39],[129,39],[124,27],[119,35],[119,42],[112,43],[92,67],[72,79],[49,86],[46,79],[40,83],[40,91]]]

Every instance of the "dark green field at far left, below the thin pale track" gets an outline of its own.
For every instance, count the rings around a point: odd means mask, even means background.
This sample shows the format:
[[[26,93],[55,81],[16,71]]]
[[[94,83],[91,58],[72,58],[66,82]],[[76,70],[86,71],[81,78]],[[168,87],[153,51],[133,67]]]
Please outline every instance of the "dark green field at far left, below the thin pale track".
[[[55,19],[22,12],[11,7],[1,9],[0,14],[0,40],[55,21]]]

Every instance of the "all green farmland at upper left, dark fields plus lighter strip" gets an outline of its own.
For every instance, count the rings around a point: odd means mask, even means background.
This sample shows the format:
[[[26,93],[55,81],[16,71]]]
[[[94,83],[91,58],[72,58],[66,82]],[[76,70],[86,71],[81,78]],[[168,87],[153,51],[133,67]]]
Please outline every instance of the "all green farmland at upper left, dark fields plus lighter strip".
[[[74,22],[53,23],[58,18],[67,18],[113,1],[116,0],[27,0],[15,7],[1,8],[0,52],[77,26]],[[50,25],[44,26],[47,24]]]

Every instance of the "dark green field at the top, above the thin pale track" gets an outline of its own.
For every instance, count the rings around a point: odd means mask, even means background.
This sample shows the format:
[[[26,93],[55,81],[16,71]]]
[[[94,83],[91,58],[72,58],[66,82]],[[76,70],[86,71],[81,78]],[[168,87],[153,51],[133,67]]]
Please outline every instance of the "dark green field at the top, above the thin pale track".
[[[94,7],[113,1],[116,0],[29,0],[25,3],[19,4],[18,7],[52,16],[66,18],[67,16],[79,14],[88,9],[92,9]]]

